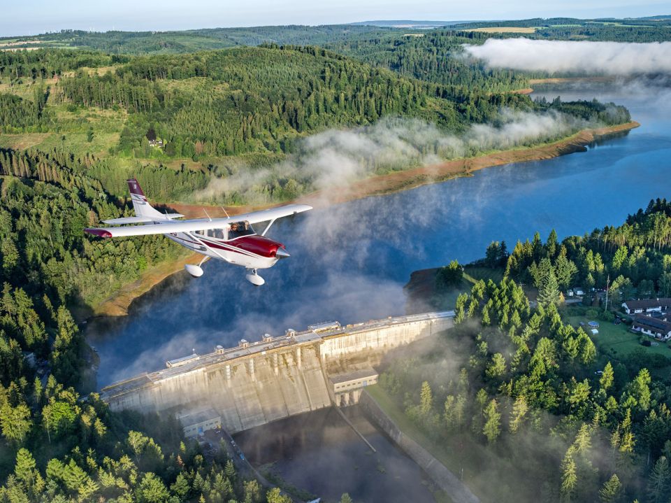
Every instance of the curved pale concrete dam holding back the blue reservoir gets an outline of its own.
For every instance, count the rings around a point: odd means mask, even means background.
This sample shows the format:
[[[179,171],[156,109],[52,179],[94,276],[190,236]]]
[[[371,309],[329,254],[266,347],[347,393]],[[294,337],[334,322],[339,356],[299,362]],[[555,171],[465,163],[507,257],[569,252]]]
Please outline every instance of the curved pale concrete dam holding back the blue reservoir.
[[[241,432],[270,421],[327,406],[358,402],[377,382],[370,367],[389,350],[451,328],[454,312],[424,313],[356,323],[310,325],[217,346],[206,355],[166,362],[101,390],[110,409],[174,413],[185,432],[215,426]]]

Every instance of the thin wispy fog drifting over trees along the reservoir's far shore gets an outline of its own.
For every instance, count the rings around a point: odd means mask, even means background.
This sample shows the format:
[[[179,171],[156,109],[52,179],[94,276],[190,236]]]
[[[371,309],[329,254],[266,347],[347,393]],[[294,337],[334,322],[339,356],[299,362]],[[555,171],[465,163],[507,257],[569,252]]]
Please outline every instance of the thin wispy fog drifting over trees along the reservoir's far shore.
[[[335,187],[346,190],[347,185],[371,174],[549,141],[586,126],[586,122],[562,113],[503,110],[496,123],[472,125],[459,135],[447,134],[421,120],[400,118],[359,129],[330,129],[303,139],[296,153],[273,167],[227,166],[228,176],[213,178],[192,199],[226,202],[236,194],[250,204],[262,204],[269,202],[262,192],[264,186],[287,178],[306,187],[304,192],[326,192]],[[328,202],[329,194],[324,197]]]

